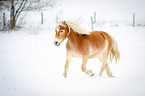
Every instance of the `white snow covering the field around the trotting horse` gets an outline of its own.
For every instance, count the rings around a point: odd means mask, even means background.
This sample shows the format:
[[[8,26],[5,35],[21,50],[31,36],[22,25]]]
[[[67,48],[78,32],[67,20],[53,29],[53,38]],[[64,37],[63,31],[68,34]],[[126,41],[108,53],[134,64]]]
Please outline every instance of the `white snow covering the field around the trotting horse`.
[[[109,78],[106,71],[99,76],[101,62],[97,58],[87,63],[87,69],[95,74],[93,77],[81,71],[81,59],[73,58],[68,77],[64,78],[67,40],[59,47],[54,45],[56,16],[78,21],[91,31],[88,18],[94,10],[66,14],[69,11],[64,6],[62,11],[58,9],[43,11],[44,24],[41,24],[40,11],[30,12],[22,22],[23,28],[0,32],[0,96],[144,96],[145,27],[124,24],[124,21],[131,22],[130,13],[122,14],[123,19],[120,15],[116,17],[118,26],[96,24],[94,30],[109,33],[119,45],[119,63],[109,62],[114,78]],[[116,21],[113,15],[104,14],[98,15],[102,18],[98,21]],[[143,21],[143,16],[138,15],[139,21]]]

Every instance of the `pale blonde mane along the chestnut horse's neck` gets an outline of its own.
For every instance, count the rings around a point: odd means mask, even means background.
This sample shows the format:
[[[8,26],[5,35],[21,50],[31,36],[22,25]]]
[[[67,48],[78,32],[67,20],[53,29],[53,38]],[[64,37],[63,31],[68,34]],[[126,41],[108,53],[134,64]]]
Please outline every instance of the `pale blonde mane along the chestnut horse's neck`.
[[[90,34],[88,31],[82,28],[77,22],[74,22],[74,21],[60,21],[58,22],[57,26],[59,25],[65,26],[64,22],[68,25],[68,27],[71,27],[74,30],[74,32],[78,34],[86,34],[86,35]]]

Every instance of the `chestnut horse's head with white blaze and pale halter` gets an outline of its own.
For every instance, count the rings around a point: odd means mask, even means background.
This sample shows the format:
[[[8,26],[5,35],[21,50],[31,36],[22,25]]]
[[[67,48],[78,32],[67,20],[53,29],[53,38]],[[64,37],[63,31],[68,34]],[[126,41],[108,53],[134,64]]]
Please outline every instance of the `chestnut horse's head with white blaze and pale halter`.
[[[54,44],[56,46],[59,46],[61,44],[61,42],[63,40],[65,40],[69,33],[70,33],[70,29],[68,27],[68,25],[66,24],[65,21],[61,22],[61,23],[58,23],[57,22],[57,26],[55,28],[55,41],[54,41]]]

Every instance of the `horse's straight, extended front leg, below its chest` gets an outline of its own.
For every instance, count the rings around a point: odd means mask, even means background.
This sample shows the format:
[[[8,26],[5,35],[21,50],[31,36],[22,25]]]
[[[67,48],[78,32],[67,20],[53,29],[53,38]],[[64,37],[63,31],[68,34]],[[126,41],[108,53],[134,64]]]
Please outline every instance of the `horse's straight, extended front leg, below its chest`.
[[[69,67],[69,63],[72,59],[72,55],[70,54],[70,52],[67,52],[66,53],[66,63],[65,63],[65,68],[64,68],[64,77],[66,78],[67,77],[67,71],[68,71],[68,67]]]

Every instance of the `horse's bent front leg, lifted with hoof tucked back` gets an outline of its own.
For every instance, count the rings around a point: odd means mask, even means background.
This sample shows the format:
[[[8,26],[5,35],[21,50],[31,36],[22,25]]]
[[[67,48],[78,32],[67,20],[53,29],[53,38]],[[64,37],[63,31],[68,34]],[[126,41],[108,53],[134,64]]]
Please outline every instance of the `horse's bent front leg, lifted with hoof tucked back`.
[[[86,69],[87,61],[88,61],[88,58],[87,57],[83,57],[82,58],[82,71],[85,72],[89,76],[93,76],[94,73],[92,72],[92,70],[87,70]]]

